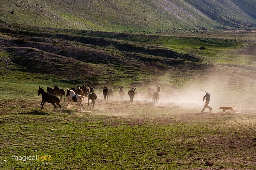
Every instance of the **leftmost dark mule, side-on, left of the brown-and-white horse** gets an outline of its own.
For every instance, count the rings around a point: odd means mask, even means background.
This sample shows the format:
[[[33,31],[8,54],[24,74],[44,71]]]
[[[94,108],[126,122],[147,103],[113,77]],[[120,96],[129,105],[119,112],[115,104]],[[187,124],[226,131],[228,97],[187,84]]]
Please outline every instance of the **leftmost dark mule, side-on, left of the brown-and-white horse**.
[[[39,86],[39,89],[38,89],[38,96],[42,94],[42,102],[41,102],[41,109],[43,109],[43,105],[47,102],[47,103],[51,103],[52,105],[54,105],[54,109],[53,111],[56,109],[56,105],[55,103],[59,106],[59,111],[61,111],[61,105],[59,104],[59,102],[61,102],[61,100],[59,100],[59,98],[57,96],[54,96],[54,95],[51,95],[51,94],[48,94],[46,93],[44,90],[43,90],[43,87],[40,87]],[[51,113],[53,112],[51,111]]]

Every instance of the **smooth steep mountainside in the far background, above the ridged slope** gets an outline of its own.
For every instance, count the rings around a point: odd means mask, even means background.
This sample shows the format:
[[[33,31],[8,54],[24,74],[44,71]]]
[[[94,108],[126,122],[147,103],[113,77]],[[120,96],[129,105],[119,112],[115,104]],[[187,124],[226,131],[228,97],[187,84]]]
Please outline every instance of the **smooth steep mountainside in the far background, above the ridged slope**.
[[[110,32],[255,29],[253,1],[1,1],[0,20]],[[10,12],[13,11],[13,14]]]

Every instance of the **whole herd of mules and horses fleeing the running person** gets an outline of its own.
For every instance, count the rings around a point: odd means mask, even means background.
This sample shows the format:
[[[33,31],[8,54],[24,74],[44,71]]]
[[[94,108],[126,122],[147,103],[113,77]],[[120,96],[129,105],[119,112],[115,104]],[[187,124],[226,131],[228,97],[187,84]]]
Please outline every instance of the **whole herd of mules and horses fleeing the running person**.
[[[133,104],[134,96],[137,96],[138,99],[143,97],[143,91],[135,91],[135,90],[136,88],[132,87],[128,91],[131,104]],[[106,87],[104,86],[104,89],[102,92],[103,92],[104,100],[109,101],[109,98],[113,99],[114,90],[112,88],[107,88],[107,86]],[[123,89],[123,87],[119,87],[118,93],[121,97],[121,100],[123,100],[123,96],[125,95],[125,90]],[[43,109],[43,105],[47,102],[47,103],[51,103],[54,106],[53,111],[57,108],[56,105],[59,106],[59,111],[60,111],[61,105],[59,103],[63,100],[62,96],[64,98],[64,101],[66,101],[65,90],[63,88],[59,88],[57,85],[54,85],[54,88],[47,87],[47,92],[43,90],[43,87],[39,86],[38,96],[40,94],[42,95],[41,109]],[[156,105],[158,103],[159,96],[160,96],[160,86],[159,87],[157,86],[157,91],[149,87],[147,89],[147,94],[149,95],[149,101],[151,99],[151,101],[153,102],[153,99],[154,99],[154,104]],[[59,99],[58,96],[60,96],[61,99]],[[79,85],[77,88],[71,88],[71,89],[67,87],[66,97],[67,97],[66,108],[68,108],[68,106],[71,105],[71,102],[77,102],[80,111],[82,111],[82,100],[86,99],[85,97],[88,97],[88,106],[91,100],[92,108],[94,108],[95,101],[97,100],[97,95],[94,92],[94,87],[91,87],[90,85],[87,87],[85,85],[83,85],[83,87]]]

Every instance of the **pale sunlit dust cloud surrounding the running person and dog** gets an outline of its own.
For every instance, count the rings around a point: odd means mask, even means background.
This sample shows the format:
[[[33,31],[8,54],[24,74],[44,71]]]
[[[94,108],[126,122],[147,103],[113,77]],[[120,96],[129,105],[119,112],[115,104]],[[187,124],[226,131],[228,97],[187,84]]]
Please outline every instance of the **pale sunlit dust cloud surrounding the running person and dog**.
[[[164,83],[136,87],[137,91],[143,91],[143,95],[135,95],[133,105],[143,104],[154,107],[187,109],[188,112],[190,109],[193,109],[193,111],[198,110],[200,112],[204,107],[205,101],[203,101],[203,96],[206,94],[205,91],[207,91],[211,96],[209,106],[212,108],[212,112],[221,113],[222,110],[219,109],[221,106],[235,106],[235,113],[243,113],[245,111],[256,113],[256,96],[254,94],[254,90],[256,89],[255,79],[246,74],[241,74],[242,71],[244,70],[241,68],[238,71],[231,66],[217,65],[207,72],[197,74],[195,77],[190,78],[182,88],[176,88]],[[161,86],[161,92],[158,104],[154,105],[154,99],[153,101],[151,97],[149,99],[147,88],[151,87],[156,91],[157,86]],[[131,87],[124,87],[125,96],[123,100],[120,99],[118,94],[119,88],[111,88],[114,89],[114,97],[109,97],[110,103],[130,104],[128,91]],[[97,87],[96,94],[98,99],[95,108],[107,110],[108,108],[104,105],[105,101],[102,89]],[[88,102],[87,99],[85,101]],[[209,111],[209,109],[205,109],[205,112]]]

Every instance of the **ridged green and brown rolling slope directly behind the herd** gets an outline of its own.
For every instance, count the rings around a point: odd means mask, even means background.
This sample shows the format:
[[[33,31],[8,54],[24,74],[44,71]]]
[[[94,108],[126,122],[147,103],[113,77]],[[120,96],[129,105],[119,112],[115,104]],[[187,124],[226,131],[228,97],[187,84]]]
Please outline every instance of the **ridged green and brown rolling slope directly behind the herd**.
[[[162,86],[168,93],[207,88],[218,91],[216,98],[227,103],[228,92],[234,90],[238,93],[233,97],[244,94],[239,100],[254,102],[249,92],[256,79],[254,32],[145,35],[6,23],[0,31],[1,86],[8,89],[22,83],[22,89],[14,91],[28,96],[36,97],[39,85],[91,84],[96,89],[108,85],[143,91]],[[8,98],[8,94],[2,96]],[[217,104],[222,103],[216,100]]]

